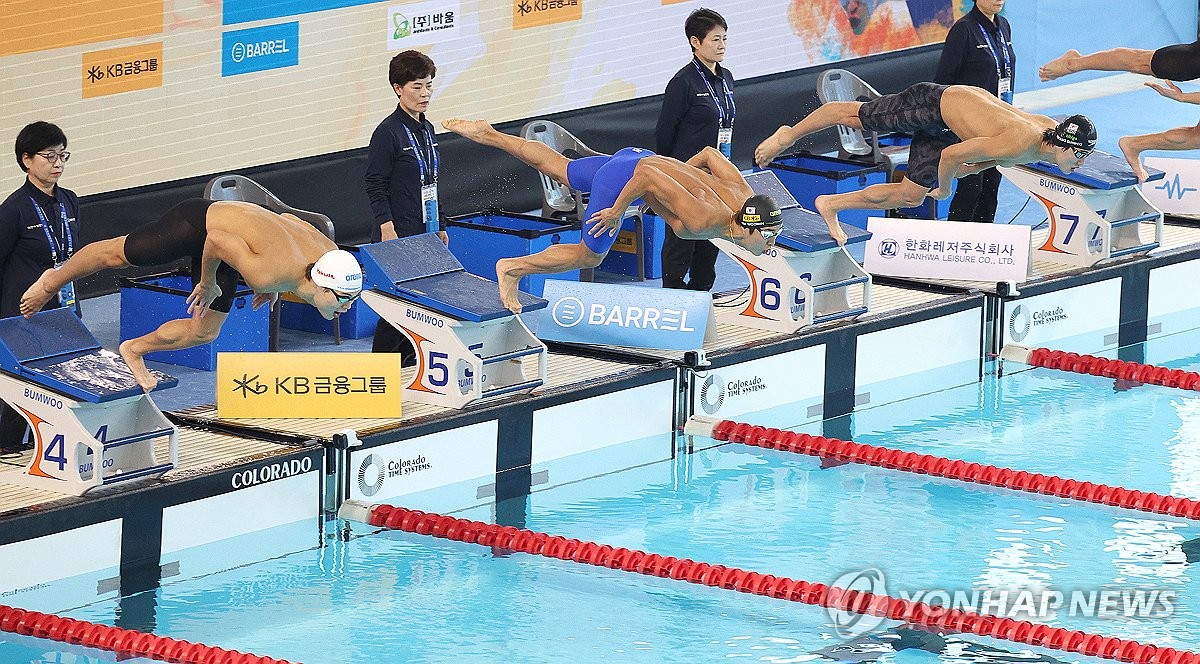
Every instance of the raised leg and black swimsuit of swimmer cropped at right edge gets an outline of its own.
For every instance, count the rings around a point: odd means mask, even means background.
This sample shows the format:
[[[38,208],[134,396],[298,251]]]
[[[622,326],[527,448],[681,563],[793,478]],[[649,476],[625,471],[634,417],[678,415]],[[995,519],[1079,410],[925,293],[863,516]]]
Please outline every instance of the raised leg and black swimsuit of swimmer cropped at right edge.
[[[1166,80],[1200,78],[1200,41],[1164,46],[1158,50],[1110,48],[1087,55],[1068,50],[1038,68],[1042,80],[1082,71],[1130,72]]]

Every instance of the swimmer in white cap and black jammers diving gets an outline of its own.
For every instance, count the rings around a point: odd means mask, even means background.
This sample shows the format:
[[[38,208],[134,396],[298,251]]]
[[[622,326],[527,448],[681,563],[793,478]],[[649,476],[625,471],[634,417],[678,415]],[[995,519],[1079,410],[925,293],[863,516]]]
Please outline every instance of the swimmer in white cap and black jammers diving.
[[[92,273],[131,265],[150,267],[192,259],[190,318],[167,321],[155,331],[124,341],[121,357],[142,389],[157,381],[146,370],[146,353],[175,351],[217,337],[229,316],[238,280],[254,291],[253,309],[294,293],[332,319],[354,304],[362,273],[348,251],[300,219],[252,203],[184,201],[158,221],[128,235],[91,243],[66,263],[46,270],[20,298],[29,318],[64,286]]]

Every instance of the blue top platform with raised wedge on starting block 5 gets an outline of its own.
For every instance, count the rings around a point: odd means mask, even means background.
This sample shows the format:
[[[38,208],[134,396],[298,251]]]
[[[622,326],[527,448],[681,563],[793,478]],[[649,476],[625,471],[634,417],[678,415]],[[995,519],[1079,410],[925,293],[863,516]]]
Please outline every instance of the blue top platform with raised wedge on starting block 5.
[[[461,321],[480,323],[512,315],[500,303],[496,282],[463,269],[433,233],[366,245],[360,251],[372,288]],[[523,311],[547,304],[524,292],[518,298]]]

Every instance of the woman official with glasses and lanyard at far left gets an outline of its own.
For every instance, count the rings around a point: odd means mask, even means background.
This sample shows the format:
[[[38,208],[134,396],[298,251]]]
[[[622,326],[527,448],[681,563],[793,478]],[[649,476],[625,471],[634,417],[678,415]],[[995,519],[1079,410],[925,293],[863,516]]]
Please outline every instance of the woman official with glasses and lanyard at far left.
[[[46,270],[74,253],[79,198],[59,186],[71,152],[67,137],[50,122],[25,125],[13,148],[25,183],[0,203],[0,317],[19,316],[20,297]],[[68,285],[43,307],[79,312]],[[25,420],[5,405],[0,411],[0,453],[23,447]]]

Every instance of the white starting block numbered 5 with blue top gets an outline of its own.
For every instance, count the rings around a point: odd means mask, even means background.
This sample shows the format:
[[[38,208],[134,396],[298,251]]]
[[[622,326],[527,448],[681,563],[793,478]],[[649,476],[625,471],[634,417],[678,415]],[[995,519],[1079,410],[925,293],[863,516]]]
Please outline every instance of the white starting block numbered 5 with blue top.
[[[437,235],[365,245],[360,255],[372,285],[364,301],[416,348],[406,399],[463,408],[546,382],[546,345],[500,304],[496,282],[464,270]],[[520,298],[524,311],[547,304],[523,292]],[[529,355],[538,357],[533,379],[522,369]]]

